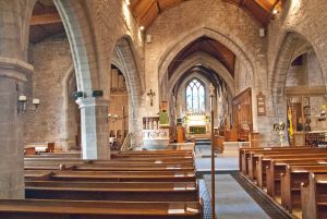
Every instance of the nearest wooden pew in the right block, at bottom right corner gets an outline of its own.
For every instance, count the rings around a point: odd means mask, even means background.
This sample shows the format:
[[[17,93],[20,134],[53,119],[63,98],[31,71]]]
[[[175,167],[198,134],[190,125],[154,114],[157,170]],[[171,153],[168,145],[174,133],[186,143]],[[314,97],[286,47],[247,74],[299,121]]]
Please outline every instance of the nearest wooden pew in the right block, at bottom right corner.
[[[310,173],[301,187],[302,219],[327,218],[327,174]]]

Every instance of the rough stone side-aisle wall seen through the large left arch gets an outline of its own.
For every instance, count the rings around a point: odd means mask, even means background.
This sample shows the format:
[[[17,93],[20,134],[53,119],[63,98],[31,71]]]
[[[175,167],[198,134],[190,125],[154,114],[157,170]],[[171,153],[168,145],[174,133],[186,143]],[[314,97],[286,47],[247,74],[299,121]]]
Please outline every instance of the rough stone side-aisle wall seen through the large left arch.
[[[28,94],[39,98],[37,109],[28,105],[25,114],[25,143],[55,142],[60,145],[64,98],[62,80],[72,66],[66,38],[50,38],[33,46],[34,72]],[[29,99],[32,97],[28,97]]]

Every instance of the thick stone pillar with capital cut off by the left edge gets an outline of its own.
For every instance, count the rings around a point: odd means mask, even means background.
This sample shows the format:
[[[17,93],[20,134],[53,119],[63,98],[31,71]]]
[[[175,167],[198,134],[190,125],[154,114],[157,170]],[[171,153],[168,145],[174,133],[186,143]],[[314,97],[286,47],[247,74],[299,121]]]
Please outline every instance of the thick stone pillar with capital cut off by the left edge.
[[[26,73],[33,66],[0,57],[0,198],[24,198],[23,112]]]

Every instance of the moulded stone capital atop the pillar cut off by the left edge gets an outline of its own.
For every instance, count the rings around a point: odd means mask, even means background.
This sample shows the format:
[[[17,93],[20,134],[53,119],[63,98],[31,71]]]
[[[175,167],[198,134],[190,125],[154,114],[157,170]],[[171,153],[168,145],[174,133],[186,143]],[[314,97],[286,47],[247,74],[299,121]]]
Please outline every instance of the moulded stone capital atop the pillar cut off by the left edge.
[[[0,77],[9,77],[26,82],[26,74],[32,73],[34,66],[22,60],[0,57]]]

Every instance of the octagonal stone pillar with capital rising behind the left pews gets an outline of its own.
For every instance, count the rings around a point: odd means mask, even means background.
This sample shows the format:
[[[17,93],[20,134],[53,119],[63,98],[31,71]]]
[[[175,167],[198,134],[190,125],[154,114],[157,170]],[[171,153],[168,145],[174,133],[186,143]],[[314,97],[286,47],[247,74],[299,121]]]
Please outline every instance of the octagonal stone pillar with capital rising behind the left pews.
[[[82,153],[84,160],[109,160],[108,105],[104,98],[80,98]]]

